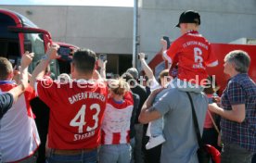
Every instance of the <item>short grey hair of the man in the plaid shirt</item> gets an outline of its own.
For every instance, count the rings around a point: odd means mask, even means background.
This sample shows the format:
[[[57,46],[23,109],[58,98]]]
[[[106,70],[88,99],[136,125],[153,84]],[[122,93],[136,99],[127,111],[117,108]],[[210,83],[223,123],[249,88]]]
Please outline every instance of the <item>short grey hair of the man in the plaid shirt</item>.
[[[233,63],[237,72],[247,73],[250,68],[250,56],[242,50],[234,50],[224,56],[224,62]]]

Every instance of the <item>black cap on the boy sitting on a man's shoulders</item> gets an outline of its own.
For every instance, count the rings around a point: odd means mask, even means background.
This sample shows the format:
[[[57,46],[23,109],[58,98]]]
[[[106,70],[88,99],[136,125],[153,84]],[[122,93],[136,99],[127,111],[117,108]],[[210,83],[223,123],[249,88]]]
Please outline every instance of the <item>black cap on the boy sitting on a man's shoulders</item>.
[[[200,25],[200,22],[200,15],[197,11],[187,10],[181,14],[179,23],[176,25],[176,27],[180,28],[180,23],[197,23]]]

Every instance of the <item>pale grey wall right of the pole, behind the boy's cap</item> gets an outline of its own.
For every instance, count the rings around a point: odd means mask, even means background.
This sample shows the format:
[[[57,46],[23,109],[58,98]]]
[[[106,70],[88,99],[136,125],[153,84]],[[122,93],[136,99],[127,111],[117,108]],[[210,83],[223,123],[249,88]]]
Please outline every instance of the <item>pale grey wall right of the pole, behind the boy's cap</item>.
[[[197,10],[200,32],[211,43],[230,43],[241,37],[256,38],[255,0],[143,0],[140,9],[140,50],[154,56],[160,50],[160,38],[180,36],[174,26],[180,14]]]

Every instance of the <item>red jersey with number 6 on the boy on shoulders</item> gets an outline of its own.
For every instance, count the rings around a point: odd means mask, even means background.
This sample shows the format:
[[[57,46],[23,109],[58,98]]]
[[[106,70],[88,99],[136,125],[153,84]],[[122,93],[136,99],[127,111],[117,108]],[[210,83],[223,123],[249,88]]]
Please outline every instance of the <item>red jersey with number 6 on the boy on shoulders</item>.
[[[178,62],[178,79],[198,85],[203,85],[201,81],[208,77],[206,66],[218,65],[217,57],[211,53],[211,44],[198,31],[189,31],[179,37],[166,55],[170,63]]]

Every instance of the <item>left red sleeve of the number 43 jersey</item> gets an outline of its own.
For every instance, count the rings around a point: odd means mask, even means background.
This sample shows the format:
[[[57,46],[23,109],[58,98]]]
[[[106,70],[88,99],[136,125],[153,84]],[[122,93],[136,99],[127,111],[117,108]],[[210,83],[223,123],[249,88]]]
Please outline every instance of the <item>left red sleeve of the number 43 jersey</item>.
[[[50,104],[52,103],[52,99],[56,99],[54,95],[58,88],[56,82],[50,78],[44,78],[36,81],[35,84],[36,93],[39,98],[45,102],[47,106],[51,106]]]

